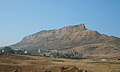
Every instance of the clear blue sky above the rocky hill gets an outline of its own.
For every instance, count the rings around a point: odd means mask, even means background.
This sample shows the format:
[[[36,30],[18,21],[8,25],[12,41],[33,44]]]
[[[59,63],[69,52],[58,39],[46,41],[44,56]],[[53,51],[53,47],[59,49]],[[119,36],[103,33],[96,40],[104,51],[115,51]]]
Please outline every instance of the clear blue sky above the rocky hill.
[[[120,37],[120,0],[0,0],[0,47],[41,30],[80,23]]]

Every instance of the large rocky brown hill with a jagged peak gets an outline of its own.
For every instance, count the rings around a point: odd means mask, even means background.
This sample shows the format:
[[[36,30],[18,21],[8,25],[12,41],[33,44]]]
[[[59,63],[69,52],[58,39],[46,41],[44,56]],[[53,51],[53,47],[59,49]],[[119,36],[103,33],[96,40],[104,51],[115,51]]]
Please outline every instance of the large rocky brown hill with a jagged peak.
[[[17,44],[18,49],[69,51],[77,50],[84,55],[120,55],[120,38],[89,30],[84,24],[61,29],[43,30],[26,36]]]

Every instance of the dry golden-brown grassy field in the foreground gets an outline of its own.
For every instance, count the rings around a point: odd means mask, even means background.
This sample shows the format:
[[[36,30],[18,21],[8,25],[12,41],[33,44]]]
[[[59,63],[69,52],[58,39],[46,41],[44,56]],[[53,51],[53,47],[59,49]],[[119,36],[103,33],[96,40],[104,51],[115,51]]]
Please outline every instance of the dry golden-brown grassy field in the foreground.
[[[0,55],[0,72],[120,72],[120,61]]]

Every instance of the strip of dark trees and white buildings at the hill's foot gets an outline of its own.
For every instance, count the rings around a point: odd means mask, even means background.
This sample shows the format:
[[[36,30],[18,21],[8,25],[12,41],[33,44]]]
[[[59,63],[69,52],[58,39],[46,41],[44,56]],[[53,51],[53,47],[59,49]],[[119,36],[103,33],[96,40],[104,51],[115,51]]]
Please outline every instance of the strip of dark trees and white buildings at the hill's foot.
[[[68,58],[68,59],[81,59],[83,54],[72,50],[67,53],[59,52],[58,50],[35,50],[35,53],[31,53],[29,50],[12,49],[10,47],[4,47],[0,51],[1,54],[19,54],[19,55],[32,55],[32,56],[44,56],[51,58]]]

